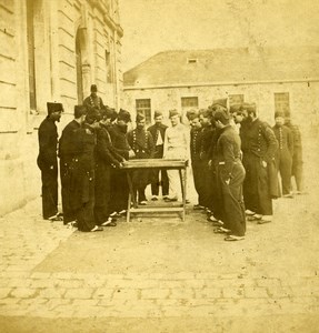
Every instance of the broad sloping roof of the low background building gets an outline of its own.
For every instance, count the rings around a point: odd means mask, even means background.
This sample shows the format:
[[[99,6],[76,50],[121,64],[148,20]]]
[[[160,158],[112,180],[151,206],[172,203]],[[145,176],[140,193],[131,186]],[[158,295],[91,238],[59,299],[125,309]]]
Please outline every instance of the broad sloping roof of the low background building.
[[[124,88],[311,79],[319,79],[319,47],[165,51],[123,74]]]

